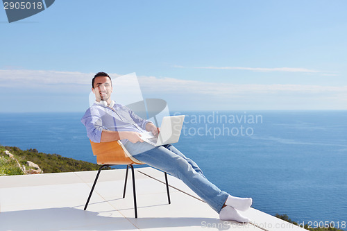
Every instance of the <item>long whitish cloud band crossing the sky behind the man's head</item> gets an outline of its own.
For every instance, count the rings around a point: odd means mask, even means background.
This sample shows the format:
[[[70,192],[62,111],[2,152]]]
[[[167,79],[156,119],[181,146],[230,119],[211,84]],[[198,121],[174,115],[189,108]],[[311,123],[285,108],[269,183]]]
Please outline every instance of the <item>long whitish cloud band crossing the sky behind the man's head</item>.
[[[90,85],[94,73],[78,71],[43,71],[43,70],[1,70],[0,85],[16,83],[24,87],[52,85]],[[120,74],[110,74],[112,78]],[[171,92],[189,94],[210,94],[214,96],[236,96],[244,94],[275,94],[278,92],[295,92],[297,94],[347,93],[346,86],[294,85],[294,84],[231,84],[209,83],[198,80],[178,78],[158,78],[155,76],[138,76],[141,88],[146,92]]]

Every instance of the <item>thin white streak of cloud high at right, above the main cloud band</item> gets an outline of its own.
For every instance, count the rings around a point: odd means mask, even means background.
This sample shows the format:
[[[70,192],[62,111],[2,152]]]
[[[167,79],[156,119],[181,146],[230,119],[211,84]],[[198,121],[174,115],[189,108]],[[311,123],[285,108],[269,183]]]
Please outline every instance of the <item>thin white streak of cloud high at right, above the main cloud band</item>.
[[[187,68],[179,65],[174,65],[176,68]],[[222,70],[245,70],[245,71],[262,71],[262,72],[270,72],[270,71],[284,71],[284,72],[306,72],[306,73],[317,73],[321,71],[316,71],[312,69],[305,69],[300,67],[274,67],[274,68],[266,68],[266,67],[192,67],[194,69],[222,69]]]

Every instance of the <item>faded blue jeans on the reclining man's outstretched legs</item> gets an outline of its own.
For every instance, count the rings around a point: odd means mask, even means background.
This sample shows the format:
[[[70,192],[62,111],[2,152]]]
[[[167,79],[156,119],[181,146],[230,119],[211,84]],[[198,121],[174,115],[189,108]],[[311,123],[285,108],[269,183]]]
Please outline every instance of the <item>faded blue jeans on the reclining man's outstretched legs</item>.
[[[180,153],[177,148],[171,144],[154,147],[146,142],[135,144],[126,142],[124,146],[137,160],[182,180],[212,209],[218,213],[221,211],[229,194],[205,178],[198,165]]]

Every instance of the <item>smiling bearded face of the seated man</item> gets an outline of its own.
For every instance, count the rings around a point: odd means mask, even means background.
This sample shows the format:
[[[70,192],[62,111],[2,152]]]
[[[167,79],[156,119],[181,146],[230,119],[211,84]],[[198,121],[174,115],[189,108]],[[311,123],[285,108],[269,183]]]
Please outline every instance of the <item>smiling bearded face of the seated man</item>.
[[[95,94],[96,101],[111,101],[112,83],[108,76],[99,76],[94,79],[94,88],[92,92]]]

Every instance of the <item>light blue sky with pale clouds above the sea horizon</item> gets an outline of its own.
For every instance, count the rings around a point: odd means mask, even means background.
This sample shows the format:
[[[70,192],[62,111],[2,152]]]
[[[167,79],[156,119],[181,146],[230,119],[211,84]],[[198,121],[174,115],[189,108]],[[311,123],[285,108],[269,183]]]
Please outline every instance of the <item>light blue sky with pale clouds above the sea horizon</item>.
[[[98,71],[135,72],[172,111],[347,110],[346,8],[58,0],[12,23],[1,8],[0,112],[84,112]]]

